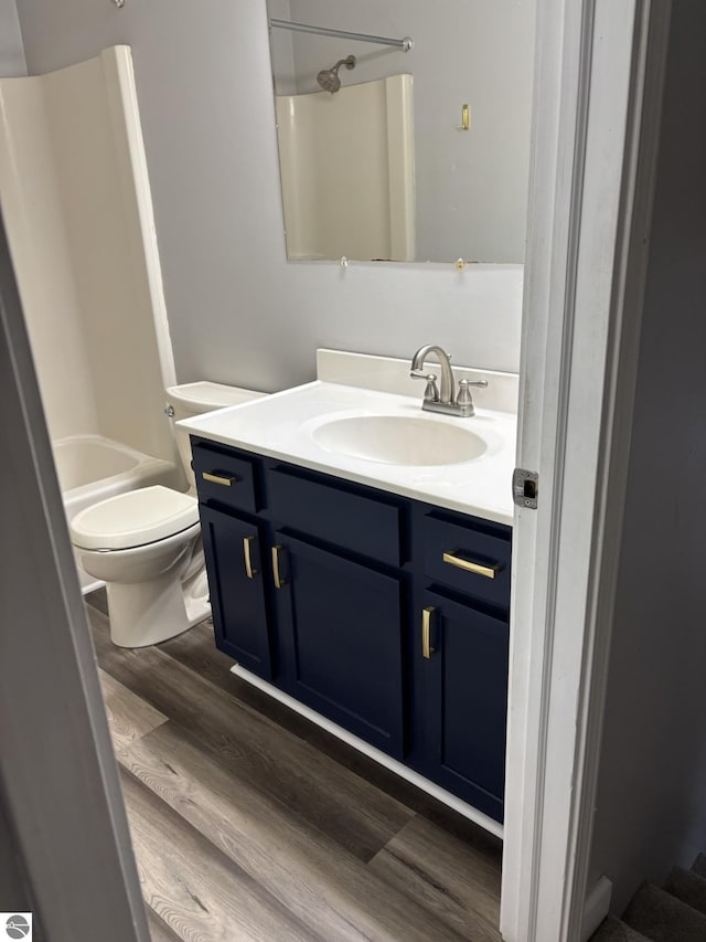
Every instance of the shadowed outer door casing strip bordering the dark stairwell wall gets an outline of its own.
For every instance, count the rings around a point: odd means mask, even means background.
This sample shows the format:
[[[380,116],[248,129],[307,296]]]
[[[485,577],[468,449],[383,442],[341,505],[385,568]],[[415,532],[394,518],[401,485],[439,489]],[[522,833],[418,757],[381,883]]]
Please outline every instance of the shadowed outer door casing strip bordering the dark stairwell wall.
[[[577,933],[587,938],[584,934],[586,912],[581,921],[578,906],[569,909],[568,901],[586,898],[588,907],[591,898],[595,906],[603,900],[605,917],[612,891],[612,885],[607,889],[609,881],[602,877],[589,893],[588,881],[671,8],[671,0],[660,0],[659,3],[643,0],[637,9],[606,356],[603,421],[596,485],[596,536],[586,614],[586,686],[579,708],[581,739],[577,749],[577,788],[571,822],[574,864],[569,868],[571,887],[565,901],[567,938],[575,938]]]

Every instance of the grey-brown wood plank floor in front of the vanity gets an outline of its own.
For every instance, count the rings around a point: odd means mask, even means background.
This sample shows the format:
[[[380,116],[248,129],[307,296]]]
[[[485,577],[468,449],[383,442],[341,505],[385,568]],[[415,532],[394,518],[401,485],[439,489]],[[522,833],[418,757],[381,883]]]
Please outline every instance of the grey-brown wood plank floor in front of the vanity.
[[[153,942],[499,942],[501,844],[229,673],[88,618]]]

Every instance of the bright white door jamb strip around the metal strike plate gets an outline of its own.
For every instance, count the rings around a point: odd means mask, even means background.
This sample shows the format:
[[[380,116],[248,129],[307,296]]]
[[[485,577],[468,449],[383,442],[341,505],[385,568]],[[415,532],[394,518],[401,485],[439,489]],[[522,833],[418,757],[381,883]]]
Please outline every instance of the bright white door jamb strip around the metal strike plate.
[[[569,49],[569,41],[573,43]],[[536,910],[536,821],[543,788],[541,730],[546,717],[545,625],[556,401],[569,245],[578,98],[580,19],[576,3],[537,7],[534,117],[524,276],[517,464],[541,474],[539,509],[515,511],[513,532],[505,847],[500,929],[532,942]],[[568,100],[567,100],[568,99]],[[554,405],[548,414],[545,400]],[[522,564],[524,562],[524,564]]]

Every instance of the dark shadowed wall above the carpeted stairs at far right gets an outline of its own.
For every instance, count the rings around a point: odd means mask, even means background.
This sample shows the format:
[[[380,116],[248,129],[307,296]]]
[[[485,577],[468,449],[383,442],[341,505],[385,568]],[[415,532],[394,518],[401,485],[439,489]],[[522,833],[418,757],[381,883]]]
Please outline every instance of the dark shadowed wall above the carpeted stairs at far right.
[[[705,46],[675,0],[591,862],[617,912],[706,849]]]

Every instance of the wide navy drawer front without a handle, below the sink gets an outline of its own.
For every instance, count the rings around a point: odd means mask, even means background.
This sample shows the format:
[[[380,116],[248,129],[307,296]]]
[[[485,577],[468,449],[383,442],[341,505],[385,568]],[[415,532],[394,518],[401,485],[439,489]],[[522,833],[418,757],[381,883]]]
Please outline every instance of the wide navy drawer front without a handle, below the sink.
[[[400,564],[400,508],[276,468],[268,476],[272,517],[356,553]]]

